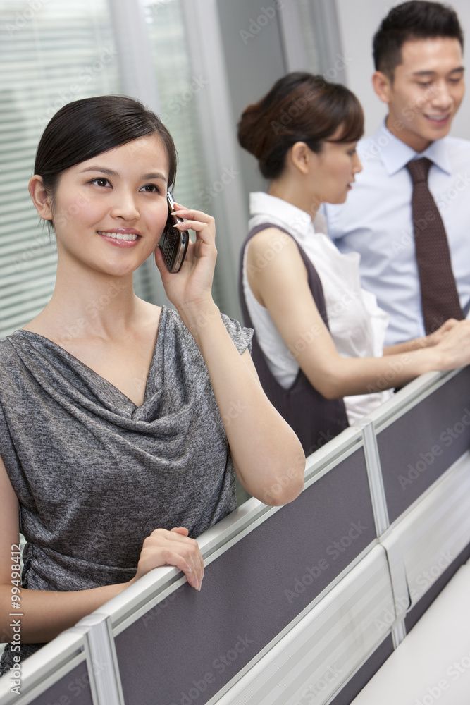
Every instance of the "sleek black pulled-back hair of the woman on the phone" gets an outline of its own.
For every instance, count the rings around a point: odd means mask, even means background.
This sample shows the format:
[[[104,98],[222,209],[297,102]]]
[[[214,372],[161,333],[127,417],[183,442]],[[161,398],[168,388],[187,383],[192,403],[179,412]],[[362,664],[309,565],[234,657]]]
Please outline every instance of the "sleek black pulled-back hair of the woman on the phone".
[[[177,154],[170,133],[142,103],[123,95],[83,98],[64,105],[47,124],[37,147],[35,174],[54,201],[61,173],[145,135],[159,135],[168,155],[168,188]]]

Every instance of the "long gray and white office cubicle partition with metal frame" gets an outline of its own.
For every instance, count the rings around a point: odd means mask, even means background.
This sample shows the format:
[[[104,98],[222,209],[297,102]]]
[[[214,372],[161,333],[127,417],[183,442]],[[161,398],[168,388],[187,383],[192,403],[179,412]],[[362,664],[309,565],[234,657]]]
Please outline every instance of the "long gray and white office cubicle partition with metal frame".
[[[81,667],[105,664],[83,702],[347,705],[469,553],[469,391],[468,369],[424,375],[311,455],[295,502],[199,537],[202,591],[158,568],[81,620]]]

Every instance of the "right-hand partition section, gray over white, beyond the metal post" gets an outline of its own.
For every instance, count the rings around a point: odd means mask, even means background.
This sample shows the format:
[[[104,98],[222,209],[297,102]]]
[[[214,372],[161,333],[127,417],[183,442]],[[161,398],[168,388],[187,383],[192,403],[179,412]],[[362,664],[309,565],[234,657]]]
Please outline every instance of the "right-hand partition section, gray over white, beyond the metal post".
[[[395,594],[395,646],[470,553],[469,527],[465,520],[463,527],[459,526],[458,520],[459,514],[465,515],[470,509],[459,491],[459,486],[469,482],[469,373],[466,367],[425,374],[369,417],[387,513],[391,507],[392,523],[381,535],[381,542],[388,553]],[[367,422],[364,419],[364,424]],[[420,424],[424,425],[422,434],[416,431]],[[405,436],[406,454],[400,447],[400,433]],[[426,445],[420,447],[423,441]],[[397,498],[393,486],[397,480],[404,494],[412,487],[406,501]],[[423,552],[430,555],[423,556]],[[452,559],[445,558],[451,553]]]

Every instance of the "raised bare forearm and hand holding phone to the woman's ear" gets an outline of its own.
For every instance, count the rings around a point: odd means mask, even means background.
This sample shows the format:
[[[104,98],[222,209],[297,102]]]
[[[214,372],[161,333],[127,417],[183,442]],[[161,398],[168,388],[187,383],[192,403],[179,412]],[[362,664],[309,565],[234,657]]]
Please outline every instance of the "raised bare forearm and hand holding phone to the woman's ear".
[[[178,274],[168,274],[157,248],[163,285],[204,357],[242,486],[266,504],[285,504],[304,485],[302,446],[266,397],[249,352],[238,353],[212,299],[214,219],[176,206],[178,216],[187,219],[180,228],[192,228],[197,240]]]

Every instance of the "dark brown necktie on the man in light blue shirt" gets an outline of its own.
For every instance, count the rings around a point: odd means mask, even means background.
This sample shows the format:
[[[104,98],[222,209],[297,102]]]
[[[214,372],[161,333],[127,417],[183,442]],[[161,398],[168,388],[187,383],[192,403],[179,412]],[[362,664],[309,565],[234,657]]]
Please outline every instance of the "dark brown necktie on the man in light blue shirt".
[[[463,318],[443,219],[428,188],[432,163],[421,157],[407,164],[413,180],[414,246],[426,335],[437,330],[448,318]]]

